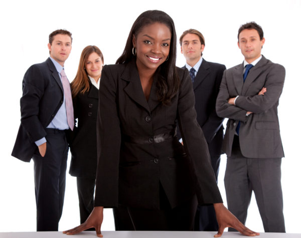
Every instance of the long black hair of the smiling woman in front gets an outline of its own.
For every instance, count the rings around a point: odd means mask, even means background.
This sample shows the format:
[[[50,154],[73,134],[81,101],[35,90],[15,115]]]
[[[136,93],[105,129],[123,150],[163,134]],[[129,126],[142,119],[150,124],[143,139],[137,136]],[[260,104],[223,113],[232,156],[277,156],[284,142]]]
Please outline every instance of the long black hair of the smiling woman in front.
[[[156,71],[159,75],[157,81],[158,99],[164,105],[168,105],[177,94],[180,87],[180,79],[176,70],[177,58],[177,35],[173,19],[165,12],[152,10],[142,13],[134,22],[126,41],[122,55],[117,59],[116,64],[125,64],[135,59],[132,54],[133,36],[137,37],[141,29],[153,23],[165,24],[171,31],[171,45],[168,60],[160,65]]]

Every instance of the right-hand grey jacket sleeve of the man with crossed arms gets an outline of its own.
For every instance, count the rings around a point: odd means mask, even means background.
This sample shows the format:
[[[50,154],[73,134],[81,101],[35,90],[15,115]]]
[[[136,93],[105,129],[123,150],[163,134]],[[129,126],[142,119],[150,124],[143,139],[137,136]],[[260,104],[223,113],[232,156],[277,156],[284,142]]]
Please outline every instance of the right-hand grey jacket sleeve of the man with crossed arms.
[[[269,110],[277,103],[282,93],[285,78],[285,69],[278,64],[272,64],[266,76],[264,95],[239,96],[235,105],[243,110],[253,113],[262,113]]]

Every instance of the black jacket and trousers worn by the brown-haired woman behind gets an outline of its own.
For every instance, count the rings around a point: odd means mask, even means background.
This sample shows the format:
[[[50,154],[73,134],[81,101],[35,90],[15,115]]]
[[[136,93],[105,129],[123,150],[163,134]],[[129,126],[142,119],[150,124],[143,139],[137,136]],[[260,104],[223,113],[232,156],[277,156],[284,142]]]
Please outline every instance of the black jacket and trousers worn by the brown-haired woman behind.
[[[98,89],[90,83],[90,89],[78,93],[73,99],[74,127],[70,143],[71,163],[69,173],[77,177],[80,217],[84,222],[94,205],[94,187],[97,166],[96,119]]]

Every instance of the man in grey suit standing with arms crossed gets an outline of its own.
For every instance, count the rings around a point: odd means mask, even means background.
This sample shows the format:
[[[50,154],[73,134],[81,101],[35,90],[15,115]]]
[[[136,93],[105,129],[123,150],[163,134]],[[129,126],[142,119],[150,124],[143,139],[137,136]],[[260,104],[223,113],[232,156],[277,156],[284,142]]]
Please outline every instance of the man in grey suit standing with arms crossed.
[[[280,181],[284,153],[277,115],[285,69],[261,55],[264,41],[256,23],[239,28],[244,62],[224,72],[216,111],[229,118],[222,146],[229,210],[245,223],[254,191],[264,231],[285,232]]]

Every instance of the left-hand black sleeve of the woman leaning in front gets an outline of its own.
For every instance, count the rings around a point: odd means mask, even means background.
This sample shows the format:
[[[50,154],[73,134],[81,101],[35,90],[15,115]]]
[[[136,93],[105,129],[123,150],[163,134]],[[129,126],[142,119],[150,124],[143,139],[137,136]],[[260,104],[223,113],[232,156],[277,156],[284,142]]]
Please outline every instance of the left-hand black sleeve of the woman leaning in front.
[[[114,72],[116,74],[116,72]],[[118,205],[118,174],[121,144],[116,104],[117,76],[104,66],[99,86],[97,116],[97,172],[94,206]]]

